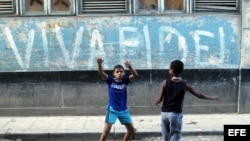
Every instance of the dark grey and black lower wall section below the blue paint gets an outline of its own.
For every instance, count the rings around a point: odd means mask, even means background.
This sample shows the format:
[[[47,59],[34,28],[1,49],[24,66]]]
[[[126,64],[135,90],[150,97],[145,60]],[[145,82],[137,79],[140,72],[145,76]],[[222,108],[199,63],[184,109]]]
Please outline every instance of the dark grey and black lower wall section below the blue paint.
[[[107,73],[111,74],[110,71]],[[159,114],[154,102],[167,70],[139,70],[128,87],[128,106],[133,114]],[[234,113],[237,111],[238,70],[185,70],[183,77],[199,91],[217,94],[219,101],[200,100],[190,94],[185,113]],[[2,73],[0,115],[103,115],[106,83],[97,71]]]

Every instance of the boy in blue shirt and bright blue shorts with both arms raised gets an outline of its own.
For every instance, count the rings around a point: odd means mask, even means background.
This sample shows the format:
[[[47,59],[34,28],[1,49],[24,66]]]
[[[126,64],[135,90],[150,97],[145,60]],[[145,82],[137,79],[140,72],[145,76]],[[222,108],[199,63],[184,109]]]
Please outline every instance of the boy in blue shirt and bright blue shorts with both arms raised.
[[[137,72],[130,64],[130,61],[125,61],[125,66],[131,72],[130,75],[125,75],[125,70],[122,65],[116,65],[113,69],[113,76],[106,74],[103,71],[102,58],[97,58],[98,73],[103,80],[108,84],[108,105],[104,129],[100,136],[100,141],[105,141],[110,133],[112,125],[118,119],[121,124],[125,125],[127,132],[123,137],[123,141],[128,141],[135,132],[132,123],[131,115],[127,109],[127,85],[137,77]]]

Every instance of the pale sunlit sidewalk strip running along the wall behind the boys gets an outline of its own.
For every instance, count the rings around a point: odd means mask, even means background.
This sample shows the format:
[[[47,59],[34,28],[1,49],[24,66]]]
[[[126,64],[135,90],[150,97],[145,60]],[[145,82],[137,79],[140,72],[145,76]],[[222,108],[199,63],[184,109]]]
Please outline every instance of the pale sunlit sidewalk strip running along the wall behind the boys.
[[[160,115],[132,116],[136,136],[160,136]],[[0,140],[11,137],[78,136],[98,139],[103,128],[104,116],[52,116],[52,117],[0,117]],[[250,125],[250,114],[186,114],[183,117],[183,135],[220,134],[225,124]],[[112,127],[111,135],[125,132],[119,121]]]

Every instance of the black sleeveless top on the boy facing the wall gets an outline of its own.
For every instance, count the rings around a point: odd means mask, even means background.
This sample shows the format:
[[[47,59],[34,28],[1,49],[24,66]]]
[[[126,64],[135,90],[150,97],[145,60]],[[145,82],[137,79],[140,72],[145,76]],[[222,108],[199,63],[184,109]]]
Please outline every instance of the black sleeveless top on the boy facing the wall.
[[[162,112],[182,113],[186,81],[166,80],[166,93],[162,103]]]

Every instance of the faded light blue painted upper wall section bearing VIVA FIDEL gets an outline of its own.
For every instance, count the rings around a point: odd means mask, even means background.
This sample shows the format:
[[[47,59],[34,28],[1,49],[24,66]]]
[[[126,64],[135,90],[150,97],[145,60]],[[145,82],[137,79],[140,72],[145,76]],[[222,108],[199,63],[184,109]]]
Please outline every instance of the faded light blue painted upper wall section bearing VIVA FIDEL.
[[[137,69],[238,68],[240,17],[0,19],[0,71],[96,70],[131,60]],[[28,19],[28,20],[27,20]],[[123,22],[124,21],[124,22]],[[233,22],[232,22],[233,21]]]

